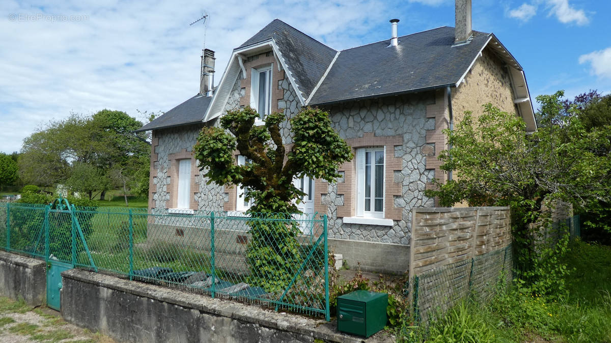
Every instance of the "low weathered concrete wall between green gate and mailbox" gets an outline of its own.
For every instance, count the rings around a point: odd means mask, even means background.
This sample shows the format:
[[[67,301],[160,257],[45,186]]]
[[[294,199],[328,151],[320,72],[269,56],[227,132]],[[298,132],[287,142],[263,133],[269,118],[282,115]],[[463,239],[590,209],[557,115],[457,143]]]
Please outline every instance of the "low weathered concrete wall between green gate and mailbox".
[[[62,316],[124,342],[362,342],[336,322],[72,269],[62,273]],[[382,333],[368,339],[381,341]],[[383,338],[382,338],[383,339]]]

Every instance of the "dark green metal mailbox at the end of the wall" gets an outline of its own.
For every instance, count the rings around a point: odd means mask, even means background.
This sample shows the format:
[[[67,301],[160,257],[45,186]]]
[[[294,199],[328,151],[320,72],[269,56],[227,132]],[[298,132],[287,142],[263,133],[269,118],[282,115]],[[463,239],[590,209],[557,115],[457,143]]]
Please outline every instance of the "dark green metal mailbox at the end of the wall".
[[[337,297],[337,330],[365,338],[386,325],[388,294],[354,291]]]

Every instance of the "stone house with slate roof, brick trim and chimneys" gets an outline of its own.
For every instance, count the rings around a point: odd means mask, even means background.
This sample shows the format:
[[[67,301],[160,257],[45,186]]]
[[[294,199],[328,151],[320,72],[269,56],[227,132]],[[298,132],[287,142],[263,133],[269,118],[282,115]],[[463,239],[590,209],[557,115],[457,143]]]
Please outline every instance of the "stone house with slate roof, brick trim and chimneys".
[[[470,12],[470,0],[456,0],[455,27],[401,37],[399,20],[390,20],[389,39],[342,51],[274,20],[233,50],[214,90],[206,50],[200,92],[139,130],[153,131],[151,211],[245,211],[241,190],[207,185],[198,170],[191,149],[200,129],[247,105],[262,117],[317,106],[356,157],[335,184],[299,180],[302,210],[327,214],[331,249],[350,264],[403,272],[412,209],[435,206],[426,187],[451,177],[437,160],[447,148],[442,130],[488,102],[536,129],[521,65],[494,34],[472,31]],[[290,143],[286,124],[283,138]]]

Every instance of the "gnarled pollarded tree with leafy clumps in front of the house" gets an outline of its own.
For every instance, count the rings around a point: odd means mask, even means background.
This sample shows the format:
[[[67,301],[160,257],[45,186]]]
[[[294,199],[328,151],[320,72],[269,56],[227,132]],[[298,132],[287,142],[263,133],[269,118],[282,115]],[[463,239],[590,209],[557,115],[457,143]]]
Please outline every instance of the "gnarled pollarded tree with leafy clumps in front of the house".
[[[352,153],[331,127],[329,114],[319,109],[304,109],[290,119],[290,150],[280,135],[280,123],[287,118],[274,113],[264,125],[255,126],[258,117],[251,107],[228,112],[220,128],[202,129],[194,154],[208,182],[249,190],[246,198],[254,204],[247,212],[253,217],[290,218],[299,212],[296,203],[303,195],[293,179],[307,175],[332,182],[339,176],[338,165],[349,161]],[[236,150],[252,162],[236,165]],[[301,261],[298,225],[251,221],[251,228],[246,255],[251,282],[268,291],[284,289],[291,280],[290,271]]]

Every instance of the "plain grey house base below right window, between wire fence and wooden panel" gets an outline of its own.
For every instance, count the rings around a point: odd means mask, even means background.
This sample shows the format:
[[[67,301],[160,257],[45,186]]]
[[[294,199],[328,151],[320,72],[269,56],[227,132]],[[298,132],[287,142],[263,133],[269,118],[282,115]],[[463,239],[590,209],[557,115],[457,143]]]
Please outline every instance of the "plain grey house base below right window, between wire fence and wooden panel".
[[[351,269],[402,274],[409,268],[409,245],[329,238],[329,251],[342,255]]]

